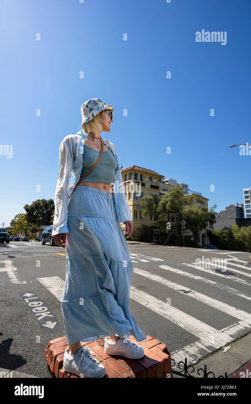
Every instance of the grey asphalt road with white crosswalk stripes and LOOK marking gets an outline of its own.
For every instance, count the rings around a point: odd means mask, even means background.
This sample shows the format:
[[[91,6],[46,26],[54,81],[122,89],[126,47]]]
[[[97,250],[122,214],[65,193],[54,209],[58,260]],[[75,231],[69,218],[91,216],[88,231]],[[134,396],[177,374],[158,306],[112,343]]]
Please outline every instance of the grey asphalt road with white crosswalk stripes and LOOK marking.
[[[176,361],[195,364],[251,331],[250,253],[128,246],[130,310]],[[63,248],[48,243],[0,244],[0,368],[46,377],[45,347],[65,335],[65,258]]]

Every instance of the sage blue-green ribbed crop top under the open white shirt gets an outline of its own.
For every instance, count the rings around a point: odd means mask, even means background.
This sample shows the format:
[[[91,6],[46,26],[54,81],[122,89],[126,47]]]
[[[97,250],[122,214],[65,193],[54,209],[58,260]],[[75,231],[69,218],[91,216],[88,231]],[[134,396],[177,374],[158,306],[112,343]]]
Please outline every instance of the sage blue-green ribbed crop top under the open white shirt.
[[[100,152],[91,149],[91,147],[84,144],[83,153],[83,168],[80,173],[80,178],[87,173],[87,171],[95,164]],[[90,182],[103,182],[110,184],[114,182],[115,170],[117,168],[117,162],[114,158],[112,150],[103,150],[100,162],[93,170],[83,179],[83,181]]]

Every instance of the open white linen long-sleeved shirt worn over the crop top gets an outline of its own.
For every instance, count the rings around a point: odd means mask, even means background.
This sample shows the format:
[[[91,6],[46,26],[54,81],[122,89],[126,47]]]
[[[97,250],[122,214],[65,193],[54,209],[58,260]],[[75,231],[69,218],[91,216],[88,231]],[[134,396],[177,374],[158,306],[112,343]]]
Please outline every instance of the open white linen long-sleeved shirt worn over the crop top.
[[[59,233],[69,233],[67,226],[68,202],[69,202],[69,183],[71,173],[75,176],[74,186],[80,179],[80,173],[83,168],[84,143],[88,133],[80,130],[75,135],[64,137],[59,147],[59,172],[58,182],[55,191],[55,215],[53,220],[52,236]],[[103,139],[104,144],[110,147],[116,158],[117,168],[114,176],[114,199],[115,208],[120,223],[132,221],[129,204],[125,198],[123,181],[121,177],[120,164],[116,154],[116,147],[110,141]]]

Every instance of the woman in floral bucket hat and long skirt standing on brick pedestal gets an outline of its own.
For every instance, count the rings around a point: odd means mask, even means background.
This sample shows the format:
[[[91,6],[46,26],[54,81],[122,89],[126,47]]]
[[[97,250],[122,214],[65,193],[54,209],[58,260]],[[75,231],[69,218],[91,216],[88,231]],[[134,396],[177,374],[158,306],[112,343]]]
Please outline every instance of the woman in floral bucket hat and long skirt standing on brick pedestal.
[[[61,300],[68,347],[64,370],[83,377],[103,377],[105,368],[91,358],[81,341],[106,337],[104,351],[138,359],[143,349],[127,340],[146,339],[129,310],[133,265],[126,235],[133,222],[122,187],[116,148],[102,139],[110,132],[112,105],[89,99],[81,105],[82,130],[64,137],[59,149],[59,173],[55,192],[52,236],[66,248],[66,281]],[[100,162],[76,187],[69,200],[71,173],[76,185],[97,161]],[[130,337],[129,337],[130,338]]]

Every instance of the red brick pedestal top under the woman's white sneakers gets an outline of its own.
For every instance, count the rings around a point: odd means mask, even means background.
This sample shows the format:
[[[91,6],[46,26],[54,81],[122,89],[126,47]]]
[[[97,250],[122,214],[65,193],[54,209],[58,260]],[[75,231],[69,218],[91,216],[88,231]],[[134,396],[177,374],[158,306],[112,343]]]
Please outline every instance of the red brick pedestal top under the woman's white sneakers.
[[[104,338],[95,341],[82,342],[106,368],[104,378],[166,378],[172,375],[171,355],[165,344],[158,339],[147,335],[144,341],[138,342],[130,335],[131,342],[140,345],[145,355],[141,359],[128,359],[124,356],[110,356],[104,352]],[[64,351],[68,346],[66,337],[52,339],[46,346],[44,357],[47,362],[46,377],[54,378],[77,378],[64,372]],[[167,376],[169,375],[169,376]]]

